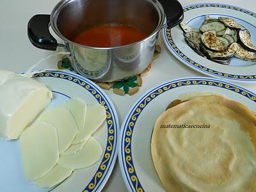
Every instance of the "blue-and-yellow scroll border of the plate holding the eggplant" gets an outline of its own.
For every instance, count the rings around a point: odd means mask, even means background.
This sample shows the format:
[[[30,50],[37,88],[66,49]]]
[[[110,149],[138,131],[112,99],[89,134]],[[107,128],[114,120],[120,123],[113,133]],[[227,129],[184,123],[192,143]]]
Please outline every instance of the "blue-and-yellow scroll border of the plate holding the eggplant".
[[[243,8],[239,8],[237,6],[232,6],[228,4],[219,4],[219,3],[200,3],[200,4],[192,4],[189,6],[186,6],[183,8],[184,13],[188,12],[189,10],[194,10],[196,8],[207,8],[207,7],[215,7],[215,8],[227,8],[230,10],[236,10],[241,13],[246,13],[247,15],[251,15],[252,17],[256,18],[256,13],[251,12],[249,10],[245,10]],[[166,28],[163,30],[163,35],[165,37],[166,45],[172,49],[172,51],[179,57],[181,61],[185,61],[186,65],[189,67],[195,68],[195,70],[203,71],[210,76],[218,76],[224,79],[230,79],[233,81],[242,81],[243,83],[246,83],[246,81],[256,81],[256,74],[249,75],[249,76],[240,76],[236,74],[227,74],[223,72],[219,72],[216,70],[212,70],[211,68],[204,67],[203,65],[196,63],[195,61],[188,58],[180,49],[177,47],[177,45],[173,42],[171,29]]]

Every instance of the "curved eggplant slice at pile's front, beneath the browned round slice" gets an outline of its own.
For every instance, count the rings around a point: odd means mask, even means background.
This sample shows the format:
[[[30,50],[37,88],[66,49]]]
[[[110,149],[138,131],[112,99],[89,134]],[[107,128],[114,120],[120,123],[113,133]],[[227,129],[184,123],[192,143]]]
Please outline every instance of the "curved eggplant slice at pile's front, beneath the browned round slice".
[[[214,52],[208,50],[203,44],[200,44],[200,51],[210,60],[230,60],[236,55],[236,47],[231,47],[231,45],[225,51]]]

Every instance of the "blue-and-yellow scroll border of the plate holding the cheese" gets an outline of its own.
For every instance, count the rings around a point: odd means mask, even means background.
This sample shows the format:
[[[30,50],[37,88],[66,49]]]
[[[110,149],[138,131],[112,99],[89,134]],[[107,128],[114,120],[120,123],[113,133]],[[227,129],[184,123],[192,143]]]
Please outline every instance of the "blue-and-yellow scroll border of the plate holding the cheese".
[[[106,184],[109,175],[111,174],[116,157],[117,157],[117,139],[118,139],[118,129],[119,122],[118,116],[116,114],[115,108],[113,107],[112,102],[108,99],[106,93],[102,92],[96,84],[92,81],[85,79],[77,74],[71,72],[60,72],[57,70],[50,70],[44,72],[38,72],[32,76],[35,77],[53,77],[58,79],[65,79],[82,86],[86,91],[90,92],[92,96],[97,99],[99,104],[104,106],[107,113],[107,125],[108,125],[108,143],[103,155],[103,159],[100,162],[100,166],[97,169],[97,172],[90,180],[90,183],[83,189],[83,192],[91,191],[101,191],[101,189]]]

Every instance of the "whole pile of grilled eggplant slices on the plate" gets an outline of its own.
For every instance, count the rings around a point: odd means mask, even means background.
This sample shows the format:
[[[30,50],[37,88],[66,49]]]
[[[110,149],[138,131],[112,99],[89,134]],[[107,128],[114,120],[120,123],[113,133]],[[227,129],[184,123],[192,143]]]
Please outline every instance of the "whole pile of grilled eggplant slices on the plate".
[[[246,61],[256,61],[256,46],[250,39],[250,31],[228,17],[218,19],[205,15],[200,29],[182,22],[184,38],[197,54],[222,65],[229,65],[236,56]]]

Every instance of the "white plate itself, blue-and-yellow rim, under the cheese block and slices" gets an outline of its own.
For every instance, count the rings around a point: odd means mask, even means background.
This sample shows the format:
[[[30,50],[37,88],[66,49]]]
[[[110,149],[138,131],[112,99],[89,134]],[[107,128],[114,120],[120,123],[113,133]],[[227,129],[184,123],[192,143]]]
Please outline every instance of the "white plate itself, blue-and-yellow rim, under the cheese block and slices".
[[[118,117],[112,102],[99,86],[72,72],[45,71],[35,74],[36,80],[45,83],[53,92],[47,108],[61,106],[68,99],[78,97],[88,104],[99,103],[106,108],[107,120],[93,134],[101,144],[104,154],[89,168],[76,170],[52,191],[100,191],[106,184],[117,156]],[[47,141],[46,141],[47,142]],[[20,141],[0,140],[0,191],[49,191],[37,188],[24,178],[20,159]]]

